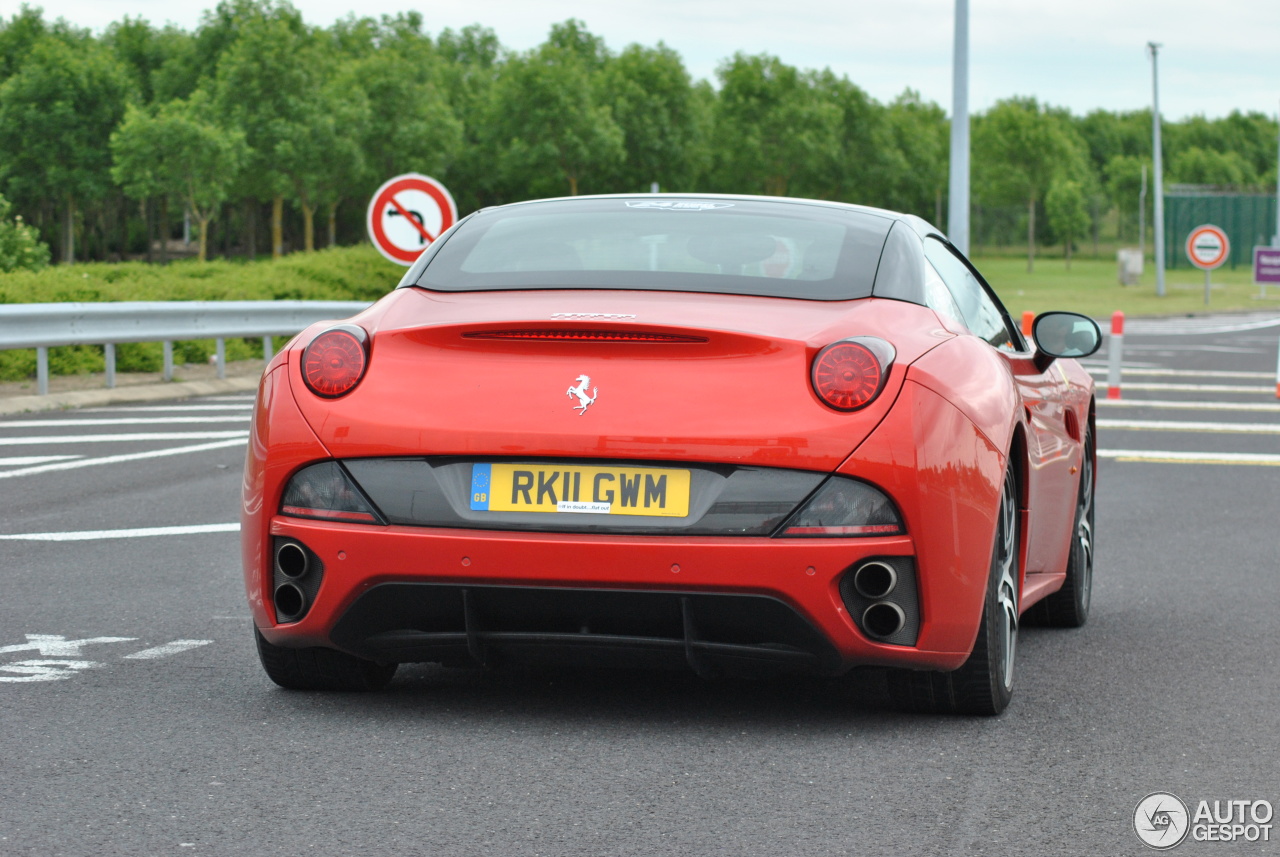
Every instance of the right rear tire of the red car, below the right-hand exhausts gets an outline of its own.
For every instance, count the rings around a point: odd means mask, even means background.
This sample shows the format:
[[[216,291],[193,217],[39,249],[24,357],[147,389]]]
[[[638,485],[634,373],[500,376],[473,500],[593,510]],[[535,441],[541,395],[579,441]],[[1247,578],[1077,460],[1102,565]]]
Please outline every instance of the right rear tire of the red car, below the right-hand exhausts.
[[[1009,705],[1018,650],[1019,521],[1018,482],[1010,466],[1000,495],[991,574],[973,652],[950,673],[890,670],[888,692],[899,706],[925,714],[995,715]]]

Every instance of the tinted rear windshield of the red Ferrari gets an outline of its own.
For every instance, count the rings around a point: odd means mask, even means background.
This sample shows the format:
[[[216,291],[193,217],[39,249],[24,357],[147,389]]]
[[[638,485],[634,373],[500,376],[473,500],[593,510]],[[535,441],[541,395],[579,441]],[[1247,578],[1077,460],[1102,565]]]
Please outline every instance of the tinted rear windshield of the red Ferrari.
[[[800,202],[556,200],[470,217],[413,284],[846,301],[872,293],[890,226],[876,214]]]

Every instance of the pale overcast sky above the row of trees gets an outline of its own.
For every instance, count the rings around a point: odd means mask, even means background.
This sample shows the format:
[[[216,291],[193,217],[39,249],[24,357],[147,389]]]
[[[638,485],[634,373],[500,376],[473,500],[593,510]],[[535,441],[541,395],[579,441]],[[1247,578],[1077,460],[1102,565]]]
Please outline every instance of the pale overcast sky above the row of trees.
[[[4,3],[13,9],[15,4]],[[195,29],[211,0],[45,0],[100,32],[124,15]],[[585,22],[620,50],[673,47],[695,78],[714,81],[736,51],[768,52],[800,68],[829,67],[879,101],[906,88],[951,111],[952,0],[294,0],[329,26],[358,10],[417,9],[435,35],[479,23],[503,46],[526,50],[553,23]],[[1160,102],[1166,119],[1280,111],[1277,0],[970,0],[970,110],[1014,95],[1084,114],[1151,105],[1148,41],[1162,42]],[[12,13],[10,13],[12,14]],[[8,15],[5,15],[8,17]]]

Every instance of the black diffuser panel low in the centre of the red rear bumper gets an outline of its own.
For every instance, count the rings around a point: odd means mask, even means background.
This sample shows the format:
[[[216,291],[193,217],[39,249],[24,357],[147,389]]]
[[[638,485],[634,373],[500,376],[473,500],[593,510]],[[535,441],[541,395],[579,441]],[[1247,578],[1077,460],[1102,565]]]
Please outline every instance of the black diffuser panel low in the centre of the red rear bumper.
[[[347,610],[332,638],[380,661],[840,669],[817,628],[759,595],[385,583]]]

